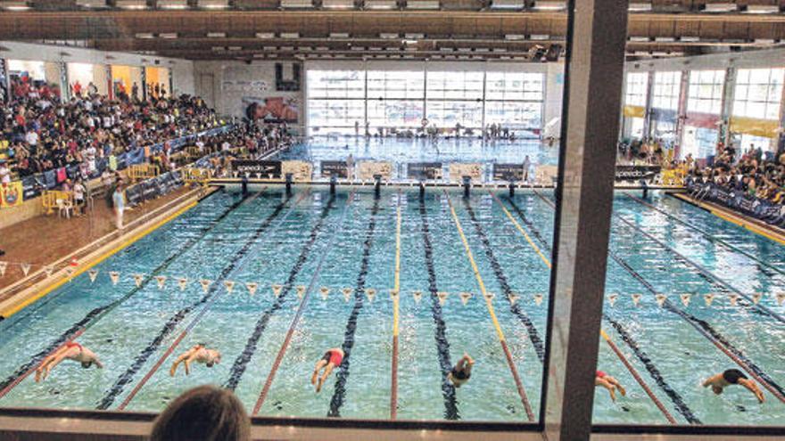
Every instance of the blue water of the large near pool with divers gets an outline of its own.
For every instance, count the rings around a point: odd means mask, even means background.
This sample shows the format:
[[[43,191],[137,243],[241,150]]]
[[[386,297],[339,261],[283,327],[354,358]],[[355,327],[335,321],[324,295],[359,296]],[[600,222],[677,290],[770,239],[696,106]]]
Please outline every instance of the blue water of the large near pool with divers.
[[[0,398],[0,406],[117,409],[150,374],[128,410],[159,411],[174,396],[203,383],[233,388],[251,410],[301,304],[296,286],[313,280],[315,290],[302,306],[302,317],[293,328],[260,414],[389,418],[389,290],[400,206],[398,417],[526,421],[451,216],[449,195],[483,282],[495,294],[492,306],[538,414],[543,371],[539,346],[545,339],[549,270],[500,203],[549,257],[554,213],[546,200],[552,199],[552,192],[521,191],[513,200],[500,192],[496,201],[479,189],[469,200],[457,191],[434,189],[421,202],[417,192],[399,193],[392,187],[375,200],[366,187],[357,189],[348,203],[349,191],[339,191],[333,199],[326,189],[296,187],[287,199],[281,188],[272,186],[245,200],[237,193],[219,192],[97,265],[95,282],[81,274],[44,301],[0,323],[4,355],[0,388],[34,366],[70,331],[78,330],[75,323],[87,327],[77,341],[93,349],[105,364],[103,370],[84,370],[76,363],[62,363],[44,382],[22,380]],[[780,245],[665,194],[655,192],[649,201],[785,271]],[[741,388],[715,396],[699,386],[706,376],[736,365],[685,317],[704,321],[778,385],[785,384],[782,323],[756,312],[743,299],[739,306],[731,306],[725,289],[713,283],[711,275],[701,276],[620,218],[741,292],[764,294],[760,304],[778,314],[785,314],[785,307],[773,296],[783,290],[783,276],[622,192],[616,194],[611,249],[627,266],[608,261],[607,295],[618,296],[615,306],[608,302],[605,306],[603,328],[608,335],[680,423],[781,424],[785,407],[768,392],[764,392],[766,403],[757,404]],[[117,285],[112,284],[110,271],[120,272]],[[146,274],[147,282],[137,288],[132,274]],[[149,278],[151,274],[168,276],[163,289]],[[185,290],[178,289],[178,277],[188,278]],[[200,279],[217,282],[205,293],[196,282]],[[654,294],[640,279],[666,294],[672,309],[657,306]],[[236,282],[232,293],[222,284],[225,280]],[[245,282],[259,283],[254,296]],[[286,285],[279,298],[273,295],[273,284]],[[320,287],[330,289],[326,299]],[[343,298],[344,287],[351,288],[349,301]],[[373,301],[365,295],[366,288],[376,289]],[[419,301],[412,294],[416,290],[424,293]],[[450,293],[443,306],[432,295],[437,291]],[[465,306],[459,298],[462,291],[474,295]],[[509,292],[519,296],[514,305],[505,296]],[[685,292],[693,294],[689,306],[679,298]],[[712,306],[706,306],[703,298],[709,292],[718,293]],[[633,305],[632,293],[641,294],[639,306]],[[537,294],[544,297],[540,305],[535,302]],[[174,355],[155,369],[177,341]],[[195,365],[190,376],[178,372],[170,377],[173,358],[196,343],[218,348],[221,363],[211,369]],[[344,347],[348,356],[324,390],[315,394],[310,372],[329,347]],[[443,375],[464,352],[475,358],[475,369],[466,386],[453,389],[442,381]],[[605,390],[598,389],[594,421],[667,422],[604,342],[600,342],[599,369],[620,380],[628,395],[615,404]]]

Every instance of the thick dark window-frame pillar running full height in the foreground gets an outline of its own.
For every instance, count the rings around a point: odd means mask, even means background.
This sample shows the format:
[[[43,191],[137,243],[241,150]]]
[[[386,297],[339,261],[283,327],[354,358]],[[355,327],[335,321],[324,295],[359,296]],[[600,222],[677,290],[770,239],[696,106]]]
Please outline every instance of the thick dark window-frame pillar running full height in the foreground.
[[[568,2],[545,435],[591,435],[627,30],[624,0]]]

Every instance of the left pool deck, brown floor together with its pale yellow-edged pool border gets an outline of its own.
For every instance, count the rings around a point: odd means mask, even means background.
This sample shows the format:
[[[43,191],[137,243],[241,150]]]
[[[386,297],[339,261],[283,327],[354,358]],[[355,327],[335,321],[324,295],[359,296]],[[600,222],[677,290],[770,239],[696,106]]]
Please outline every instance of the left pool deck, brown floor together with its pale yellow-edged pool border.
[[[127,227],[121,233],[114,227],[112,209],[100,202],[88,216],[70,219],[38,216],[0,230],[6,253],[0,260],[8,262],[5,275],[0,278],[0,315],[7,318],[71,275],[87,271],[193,207],[203,195],[202,189],[183,187],[148,201],[127,212],[124,222]],[[46,239],[42,240],[44,233]],[[70,266],[72,257],[77,258],[78,265]],[[27,276],[21,263],[32,264]],[[54,267],[51,275],[46,274],[44,265]]]

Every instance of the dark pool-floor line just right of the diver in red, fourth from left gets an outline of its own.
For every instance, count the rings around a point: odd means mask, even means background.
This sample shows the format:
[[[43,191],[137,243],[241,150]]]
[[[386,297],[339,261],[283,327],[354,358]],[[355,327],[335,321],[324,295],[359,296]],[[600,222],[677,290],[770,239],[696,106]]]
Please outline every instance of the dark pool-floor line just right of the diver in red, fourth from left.
[[[357,319],[362,310],[363,303],[365,302],[365,281],[368,276],[368,265],[370,264],[371,248],[374,243],[374,236],[376,235],[376,214],[379,212],[379,200],[374,200],[373,208],[371,208],[371,216],[368,220],[368,227],[366,228],[365,241],[362,245],[362,260],[359,265],[359,273],[357,274],[357,282],[354,288],[354,306],[351,308],[351,314],[346,321],[346,330],[343,333],[343,363],[341,363],[340,370],[335,374],[335,389],[333,397],[330,399],[330,410],[327,412],[328,417],[340,417],[341,406],[343,399],[346,395],[346,382],[349,380],[349,367],[351,362],[351,348],[354,347],[354,334],[357,331]]]

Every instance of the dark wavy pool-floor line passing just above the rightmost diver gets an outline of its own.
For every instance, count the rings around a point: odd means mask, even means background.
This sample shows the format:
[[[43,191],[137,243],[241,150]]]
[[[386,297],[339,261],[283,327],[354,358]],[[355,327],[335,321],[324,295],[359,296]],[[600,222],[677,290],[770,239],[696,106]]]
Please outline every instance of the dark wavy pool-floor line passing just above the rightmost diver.
[[[635,271],[632,266],[627,264],[624,260],[620,257],[616,256],[611,250],[608,250],[608,254],[611,258],[613,258],[617,264],[621,265],[627,273],[632,275],[632,277],[640,282],[649,292],[657,296],[658,292],[654,288],[654,286],[649,283],[642,275],[640,275],[637,271]],[[678,306],[674,306],[673,302],[669,299],[665,298],[665,302],[663,303],[663,307],[673,313],[679,315],[684,321],[690,324],[699,334],[701,334],[704,338],[709,340],[715,347],[717,347],[724,355],[727,355],[731,360],[738,364],[741,369],[747,371],[753,378],[755,378],[764,388],[768,389],[770,392],[773,393],[774,396],[780,398],[783,401],[783,390],[771,377],[769,377],[760,367],[753,363],[751,360],[744,355],[740,349],[734,347],[728,339],[718,331],[716,331],[710,324],[706,321],[698,319],[698,317],[687,313],[683,309],[679,308]]]

